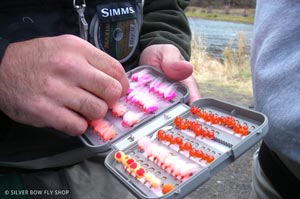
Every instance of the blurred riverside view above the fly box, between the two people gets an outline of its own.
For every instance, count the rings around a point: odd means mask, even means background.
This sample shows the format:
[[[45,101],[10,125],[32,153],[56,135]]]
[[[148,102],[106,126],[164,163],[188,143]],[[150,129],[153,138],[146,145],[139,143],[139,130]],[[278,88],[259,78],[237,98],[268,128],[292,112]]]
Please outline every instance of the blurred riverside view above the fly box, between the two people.
[[[253,107],[250,52],[255,1],[191,0],[194,76],[203,96]]]

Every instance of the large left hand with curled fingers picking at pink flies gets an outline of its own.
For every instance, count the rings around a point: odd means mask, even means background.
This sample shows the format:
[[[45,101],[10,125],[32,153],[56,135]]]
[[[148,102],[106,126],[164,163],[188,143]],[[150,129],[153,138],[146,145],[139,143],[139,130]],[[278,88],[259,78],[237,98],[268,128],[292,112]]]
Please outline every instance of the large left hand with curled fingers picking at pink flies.
[[[80,135],[129,87],[121,64],[72,35],[8,46],[0,65],[0,110],[35,127]]]

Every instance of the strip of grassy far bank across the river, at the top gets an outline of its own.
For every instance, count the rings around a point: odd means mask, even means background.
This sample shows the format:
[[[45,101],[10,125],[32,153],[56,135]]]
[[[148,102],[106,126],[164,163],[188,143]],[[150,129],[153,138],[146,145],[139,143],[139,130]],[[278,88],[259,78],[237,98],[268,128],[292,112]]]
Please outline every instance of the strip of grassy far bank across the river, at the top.
[[[255,9],[212,9],[190,6],[185,13],[188,17],[253,24]]]

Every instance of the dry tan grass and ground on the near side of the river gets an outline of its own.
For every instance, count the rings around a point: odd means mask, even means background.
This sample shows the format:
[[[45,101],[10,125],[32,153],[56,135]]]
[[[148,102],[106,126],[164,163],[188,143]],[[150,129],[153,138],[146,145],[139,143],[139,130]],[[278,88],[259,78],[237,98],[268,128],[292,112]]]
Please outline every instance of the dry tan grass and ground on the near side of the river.
[[[191,63],[203,97],[214,97],[242,106],[252,107],[250,57],[245,53],[244,34],[238,34],[238,48],[229,41],[224,61],[208,56],[201,38],[192,40]]]

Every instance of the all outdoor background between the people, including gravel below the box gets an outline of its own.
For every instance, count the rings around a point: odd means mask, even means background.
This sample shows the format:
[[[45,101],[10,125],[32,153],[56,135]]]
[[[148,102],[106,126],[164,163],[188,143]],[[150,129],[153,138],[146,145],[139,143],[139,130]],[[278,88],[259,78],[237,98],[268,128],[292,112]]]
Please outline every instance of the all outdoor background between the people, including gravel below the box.
[[[255,0],[191,0],[194,77],[202,97],[253,108],[250,53]],[[252,154],[259,143],[192,192],[187,199],[247,199]]]

